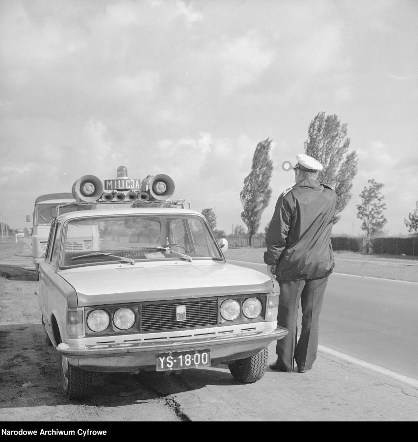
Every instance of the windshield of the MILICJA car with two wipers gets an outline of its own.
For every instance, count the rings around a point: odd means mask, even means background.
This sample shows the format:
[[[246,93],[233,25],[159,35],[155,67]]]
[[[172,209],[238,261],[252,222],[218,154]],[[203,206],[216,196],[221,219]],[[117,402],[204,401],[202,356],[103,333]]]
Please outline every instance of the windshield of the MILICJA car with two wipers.
[[[144,260],[223,260],[197,215],[111,215],[65,224],[60,267]]]

